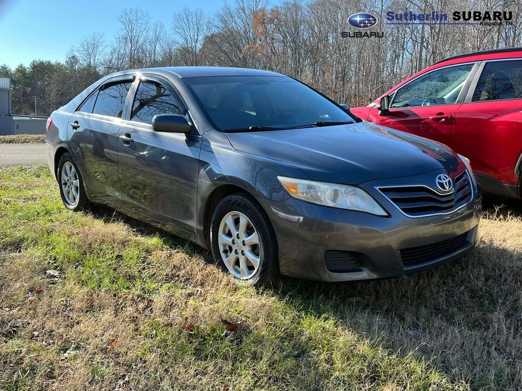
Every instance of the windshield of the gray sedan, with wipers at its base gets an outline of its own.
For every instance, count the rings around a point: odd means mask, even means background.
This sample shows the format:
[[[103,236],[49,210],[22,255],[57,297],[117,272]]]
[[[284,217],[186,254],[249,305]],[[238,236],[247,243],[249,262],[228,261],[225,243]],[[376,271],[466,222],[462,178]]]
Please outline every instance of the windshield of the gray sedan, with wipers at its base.
[[[183,81],[218,130],[273,130],[355,122],[324,96],[286,76],[195,77]]]

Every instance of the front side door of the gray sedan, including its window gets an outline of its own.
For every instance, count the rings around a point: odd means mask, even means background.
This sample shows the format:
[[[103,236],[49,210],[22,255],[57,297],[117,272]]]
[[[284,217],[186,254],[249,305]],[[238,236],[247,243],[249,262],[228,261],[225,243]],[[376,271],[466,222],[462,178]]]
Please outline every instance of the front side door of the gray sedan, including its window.
[[[201,137],[152,130],[157,114],[188,116],[170,83],[142,75],[118,140],[122,204],[156,220],[196,233],[196,193]],[[131,140],[131,141],[129,141]]]

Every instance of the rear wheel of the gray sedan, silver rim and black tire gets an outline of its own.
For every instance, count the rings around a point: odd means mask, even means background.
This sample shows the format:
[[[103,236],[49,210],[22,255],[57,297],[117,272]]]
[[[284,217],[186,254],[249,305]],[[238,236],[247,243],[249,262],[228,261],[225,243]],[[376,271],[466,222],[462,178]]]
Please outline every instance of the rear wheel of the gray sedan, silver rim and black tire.
[[[74,212],[86,210],[89,200],[85,194],[84,181],[70,153],[65,152],[60,158],[56,177],[65,207]]]

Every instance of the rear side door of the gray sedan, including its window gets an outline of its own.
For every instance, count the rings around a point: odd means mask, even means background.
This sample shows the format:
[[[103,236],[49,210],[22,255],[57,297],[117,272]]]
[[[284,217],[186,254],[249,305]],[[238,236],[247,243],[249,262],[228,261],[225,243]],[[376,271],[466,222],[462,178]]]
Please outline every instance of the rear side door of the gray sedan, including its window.
[[[118,179],[118,131],[133,76],[110,79],[70,117],[69,145],[87,189],[121,201]]]

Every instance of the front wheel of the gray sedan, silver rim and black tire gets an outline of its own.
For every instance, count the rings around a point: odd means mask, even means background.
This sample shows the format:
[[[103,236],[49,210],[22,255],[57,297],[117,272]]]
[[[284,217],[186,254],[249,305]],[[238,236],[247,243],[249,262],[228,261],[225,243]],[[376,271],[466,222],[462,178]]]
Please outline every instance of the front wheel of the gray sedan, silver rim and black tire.
[[[232,194],[216,206],[210,240],[214,259],[238,282],[258,286],[278,275],[274,228],[248,194]]]

